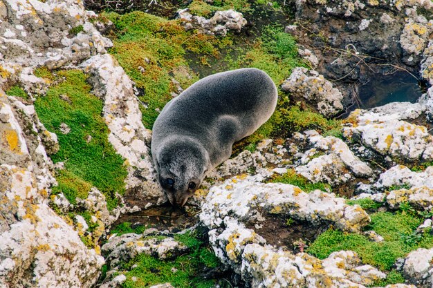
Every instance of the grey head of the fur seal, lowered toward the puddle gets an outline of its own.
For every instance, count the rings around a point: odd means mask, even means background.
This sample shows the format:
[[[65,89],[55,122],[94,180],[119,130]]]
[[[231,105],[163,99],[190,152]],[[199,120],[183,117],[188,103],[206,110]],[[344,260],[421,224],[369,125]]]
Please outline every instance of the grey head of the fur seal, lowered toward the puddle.
[[[203,181],[208,163],[208,153],[194,142],[172,142],[160,149],[158,180],[172,205],[185,205]]]

